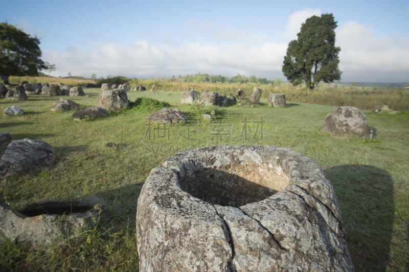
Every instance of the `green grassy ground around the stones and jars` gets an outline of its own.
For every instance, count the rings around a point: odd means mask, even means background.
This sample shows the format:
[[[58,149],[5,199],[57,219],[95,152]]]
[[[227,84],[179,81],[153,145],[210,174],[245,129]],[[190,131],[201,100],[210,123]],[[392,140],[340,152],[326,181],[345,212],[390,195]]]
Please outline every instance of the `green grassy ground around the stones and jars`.
[[[70,100],[97,106],[99,90],[84,91],[89,97]],[[189,116],[198,111],[180,105],[180,92],[129,91],[128,97],[131,101],[138,97],[166,101]],[[289,100],[286,108],[269,108],[264,97],[253,108],[232,106],[220,111],[216,107],[224,124],[230,126],[225,127],[227,134],[222,137],[215,135],[209,121],[201,119],[191,126],[170,128],[169,139],[149,139],[145,137],[147,113],[123,112],[105,119],[75,122],[70,119],[72,113],[49,110],[58,98],[29,95],[27,101],[0,101],[0,110],[16,105],[26,113],[22,117],[1,116],[0,131],[10,133],[12,140],[27,137],[46,141],[59,157],[54,169],[4,178],[0,194],[16,210],[45,199],[70,200],[95,194],[108,203],[111,218],[100,229],[61,239],[52,246],[28,248],[18,242],[3,243],[0,270],[137,271],[135,213],[139,192],[150,170],[177,151],[228,144],[276,145],[312,158],[334,186],[355,269],[409,270],[408,112],[371,114],[362,110],[376,131],[376,140],[337,140],[320,133],[325,116],[334,106]],[[241,123],[245,118],[263,118],[263,135],[260,130],[256,135],[248,130],[245,138]],[[255,126],[257,123],[251,127],[253,134]],[[192,133],[189,140],[177,137],[186,135],[188,129]],[[107,143],[116,143],[118,148],[111,149]]]

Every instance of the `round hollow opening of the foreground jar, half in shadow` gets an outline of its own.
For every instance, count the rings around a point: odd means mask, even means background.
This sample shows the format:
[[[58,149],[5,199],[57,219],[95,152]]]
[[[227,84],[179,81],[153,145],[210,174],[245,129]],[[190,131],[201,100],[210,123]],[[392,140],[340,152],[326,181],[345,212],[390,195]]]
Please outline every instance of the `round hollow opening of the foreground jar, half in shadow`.
[[[289,179],[281,165],[234,163],[196,170],[179,180],[180,188],[213,205],[241,207],[283,190]]]

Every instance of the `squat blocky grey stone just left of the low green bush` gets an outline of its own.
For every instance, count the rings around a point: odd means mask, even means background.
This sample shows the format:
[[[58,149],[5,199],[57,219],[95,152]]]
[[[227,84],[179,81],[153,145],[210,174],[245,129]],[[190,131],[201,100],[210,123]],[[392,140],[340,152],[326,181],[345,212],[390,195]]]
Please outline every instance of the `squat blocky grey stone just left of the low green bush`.
[[[106,110],[119,110],[129,105],[124,89],[101,90],[98,94],[98,107]]]

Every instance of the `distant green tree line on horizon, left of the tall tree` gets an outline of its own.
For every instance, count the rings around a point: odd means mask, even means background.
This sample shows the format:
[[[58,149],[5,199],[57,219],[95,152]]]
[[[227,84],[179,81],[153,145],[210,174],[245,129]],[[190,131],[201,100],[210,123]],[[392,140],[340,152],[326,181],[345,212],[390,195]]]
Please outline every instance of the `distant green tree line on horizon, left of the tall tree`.
[[[194,76],[187,75],[185,77],[185,82],[191,83],[237,83],[237,84],[246,84],[246,83],[255,83],[255,84],[271,84],[279,85],[281,79],[268,80],[266,78],[256,78],[256,76],[251,75],[249,77],[238,74],[234,77],[224,77],[224,76],[214,76],[208,75],[207,73],[197,73]]]

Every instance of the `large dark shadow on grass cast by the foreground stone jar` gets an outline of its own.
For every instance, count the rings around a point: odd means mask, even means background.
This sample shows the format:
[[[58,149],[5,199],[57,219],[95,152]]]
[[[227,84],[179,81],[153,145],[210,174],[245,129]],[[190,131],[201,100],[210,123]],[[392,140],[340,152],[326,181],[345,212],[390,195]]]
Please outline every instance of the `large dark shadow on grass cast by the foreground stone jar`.
[[[338,198],[355,270],[385,271],[395,211],[392,177],[370,165],[339,165],[325,173]]]

